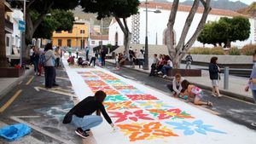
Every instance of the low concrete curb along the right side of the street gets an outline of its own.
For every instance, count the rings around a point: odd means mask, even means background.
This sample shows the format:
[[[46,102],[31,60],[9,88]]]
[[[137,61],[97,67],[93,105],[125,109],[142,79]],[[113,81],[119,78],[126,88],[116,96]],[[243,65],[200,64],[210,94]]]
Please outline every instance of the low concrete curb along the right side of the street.
[[[106,61],[106,62],[108,62],[108,64],[114,65],[110,61]],[[130,67],[126,67],[126,66],[121,66],[121,67],[126,68],[126,69],[130,69],[130,70],[133,70],[133,71],[136,71],[136,72],[143,72],[143,71],[140,71],[140,70],[137,70],[137,69],[133,69],[133,68],[130,68]],[[149,74],[149,72],[143,72],[143,73]],[[172,79],[172,78],[168,78],[168,79]],[[212,90],[212,87],[209,87],[207,85],[196,84],[196,83],[192,83],[192,84],[198,85],[202,89]],[[239,95],[239,94],[236,94],[236,93],[232,93],[232,92],[224,90],[224,89],[219,89],[219,92],[224,94],[224,95],[228,95],[228,96],[230,96],[232,98],[236,98],[236,99],[239,99],[239,100],[242,100],[242,101],[248,101],[248,102],[254,103],[254,100],[251,97],[247,97],[247,96],[244,96],[244,95]]]

